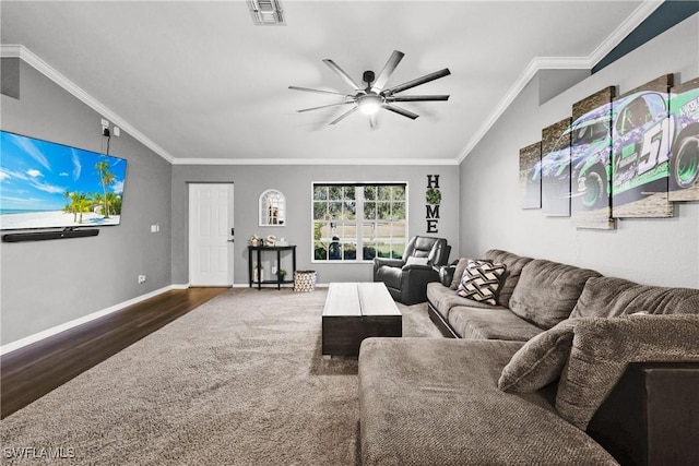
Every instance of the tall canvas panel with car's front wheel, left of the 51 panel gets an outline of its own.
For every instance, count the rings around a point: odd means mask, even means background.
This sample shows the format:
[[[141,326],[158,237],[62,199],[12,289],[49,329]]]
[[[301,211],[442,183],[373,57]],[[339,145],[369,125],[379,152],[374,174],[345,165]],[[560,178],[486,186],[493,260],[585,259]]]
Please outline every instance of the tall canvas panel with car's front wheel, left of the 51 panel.
[[[614,94],[606,87],[572,106],[570,217],[581,228],[615,226],[609,189]]]

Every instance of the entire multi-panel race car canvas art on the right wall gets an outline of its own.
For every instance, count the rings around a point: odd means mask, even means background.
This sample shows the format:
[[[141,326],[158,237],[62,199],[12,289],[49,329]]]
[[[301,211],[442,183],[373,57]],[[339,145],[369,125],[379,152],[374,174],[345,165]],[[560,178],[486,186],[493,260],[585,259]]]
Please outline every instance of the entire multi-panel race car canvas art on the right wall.
[[[572,118],[545,128],[541,160],[538,143],[520,150],[522,208],[536,208],[541,189],[546,215],[613,229],[615,218],[672,217],[673,202],[699,201],[699,79],[674,85],[665,74],[615,91],[573,104]]]

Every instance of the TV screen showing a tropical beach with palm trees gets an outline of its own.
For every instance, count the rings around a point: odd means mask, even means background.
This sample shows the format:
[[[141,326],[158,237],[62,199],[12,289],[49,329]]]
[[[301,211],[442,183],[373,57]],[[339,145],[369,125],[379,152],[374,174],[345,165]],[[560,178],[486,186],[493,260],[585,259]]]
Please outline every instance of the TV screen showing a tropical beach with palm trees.
[[[0,229],[119,225],[127,160],[0,131]]]

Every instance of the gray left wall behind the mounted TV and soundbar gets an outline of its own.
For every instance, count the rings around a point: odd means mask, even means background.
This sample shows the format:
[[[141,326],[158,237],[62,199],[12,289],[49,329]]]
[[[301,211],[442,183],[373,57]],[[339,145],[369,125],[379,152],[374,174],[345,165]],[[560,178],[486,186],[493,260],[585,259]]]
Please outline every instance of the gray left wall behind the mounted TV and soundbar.
[[[24,62],[20,76],[21,98],[0,100],[3,130],[102,151],[97,112]],[[3,345],[171,284],[171,166],[126,132],[109,152],[128,159],[121,225],[92,238],[2,243]]]

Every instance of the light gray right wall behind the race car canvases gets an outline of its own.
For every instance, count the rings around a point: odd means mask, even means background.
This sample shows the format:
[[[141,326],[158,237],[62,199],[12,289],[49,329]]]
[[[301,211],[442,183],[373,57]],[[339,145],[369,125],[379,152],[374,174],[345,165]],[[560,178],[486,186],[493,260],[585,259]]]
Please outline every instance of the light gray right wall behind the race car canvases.
[[[541,106],[540,80],[533,79],[461,164],[461,255],[500,248],[644,284],[699,287],[699,202],[676,203],[674,218],[621,219],[616,230],[584,230],[569,218],[520,210],[518,180],[520,147],[569,117],[573,103],[609,85],[623,94],[664,73],[676,73],[676,82],[699,76],[698,37],[695,14]]]

